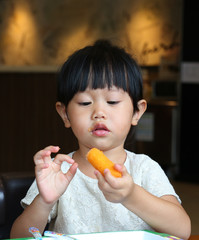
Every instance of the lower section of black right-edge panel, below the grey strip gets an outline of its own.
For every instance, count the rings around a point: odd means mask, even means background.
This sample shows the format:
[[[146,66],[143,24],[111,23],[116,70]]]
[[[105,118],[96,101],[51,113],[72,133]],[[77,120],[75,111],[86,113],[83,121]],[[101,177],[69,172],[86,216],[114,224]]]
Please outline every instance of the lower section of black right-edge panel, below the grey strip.
[[[180,175],[199,181],[199,84],[182,84]]]

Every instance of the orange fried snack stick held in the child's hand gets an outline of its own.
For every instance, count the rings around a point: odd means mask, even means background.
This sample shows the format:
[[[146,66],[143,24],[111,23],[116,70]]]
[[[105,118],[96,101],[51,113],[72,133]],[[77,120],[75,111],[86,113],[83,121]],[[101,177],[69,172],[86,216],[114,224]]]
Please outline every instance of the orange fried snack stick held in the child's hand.
[[[122,177],[122,174],[114,168],[114,163],[99,149],[92,148],[87,153],[87,159],[102,175],[104,175],[104,170],[108,168],[114,177]]]

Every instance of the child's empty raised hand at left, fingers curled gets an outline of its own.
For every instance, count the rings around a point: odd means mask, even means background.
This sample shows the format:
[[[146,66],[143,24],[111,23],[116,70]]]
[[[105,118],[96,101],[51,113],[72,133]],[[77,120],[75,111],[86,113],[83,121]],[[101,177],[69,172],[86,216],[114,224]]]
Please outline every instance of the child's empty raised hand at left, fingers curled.
[[[60,198],[78,167],[77,163],[65,154],[56,155],[52,161],[51,153],[57,153],[59,149],[59,147],[48,146],[34,156],[37,186],[41,198],[47,204],[54,204]],[[61,164],[64,161],[72,164],[65,174],[61,171]]]

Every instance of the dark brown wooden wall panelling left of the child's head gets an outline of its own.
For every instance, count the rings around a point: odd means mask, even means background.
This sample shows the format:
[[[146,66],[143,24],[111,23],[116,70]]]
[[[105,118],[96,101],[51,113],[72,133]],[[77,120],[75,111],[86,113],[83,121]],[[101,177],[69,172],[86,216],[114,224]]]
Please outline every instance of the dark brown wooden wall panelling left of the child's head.
[[[33,155],[51,144],[77,148],[55,102],[55,73],[0,73],[0,172],[33,171]]]

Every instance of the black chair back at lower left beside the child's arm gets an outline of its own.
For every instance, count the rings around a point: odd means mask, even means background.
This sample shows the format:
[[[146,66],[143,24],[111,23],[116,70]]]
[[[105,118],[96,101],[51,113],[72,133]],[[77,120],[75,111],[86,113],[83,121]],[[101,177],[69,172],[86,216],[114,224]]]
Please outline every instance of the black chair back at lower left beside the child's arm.
[[[10,172],[0,174],[0,239],[9,239],[14,220],[23,208],[20,200],[26,195],[34,173]]]

